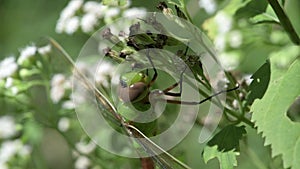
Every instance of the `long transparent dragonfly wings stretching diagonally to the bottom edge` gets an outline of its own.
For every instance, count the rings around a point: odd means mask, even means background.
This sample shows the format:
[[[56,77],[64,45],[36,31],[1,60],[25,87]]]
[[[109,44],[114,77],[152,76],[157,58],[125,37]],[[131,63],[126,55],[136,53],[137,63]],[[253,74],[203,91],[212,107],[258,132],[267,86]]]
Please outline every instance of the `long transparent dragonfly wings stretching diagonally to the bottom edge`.
[[[153,141],[147,138],[139,129],[125,122],[123,117],[121,117],[114,105],[111,104],[110,100],[106,97],[103,92],[99,91],[95,85],[90,82],[90,80],[86,77],[84,72],[81,72],[79,68],[76,67],[72,58],[64,51],[64,49],[53,39],[49,38],[50,44],[52,45],[55,57],[58,57],[60,63],[64,63],[64,66],[58,66],[59,69],[66,69],[66,67],[70,66],[70,70],[73,71],[73,75],[75,75],[76,79],[79,79],[81,86],[85,88],[87,93],[96,98],[96,102],[98,104],[99,109],[101,109],[101,113],[104,113],[104,117],[106,120],[109,120],[110,123],[113,123],[115,127],[123,128],[123,133],[125,133],[129,142],[132,145],[135,145],[137,154],[141,154],[141,156],[145,157],[150,156],[153,161],[163,169],[171,169],[171,168],[185,168],[189,167],[177,160],[168,152],[164,151],[161,147],[156,145]],[[58,63],[54,63],[58,64]],[[66,66],[66,64],[68,66]],[[57,67],[57,66],[56,66]],[[78,81],[78,80],[77,80]],[[128,141],[128,140],[127,140]],[[136,145],[138,144],[138,146]]]

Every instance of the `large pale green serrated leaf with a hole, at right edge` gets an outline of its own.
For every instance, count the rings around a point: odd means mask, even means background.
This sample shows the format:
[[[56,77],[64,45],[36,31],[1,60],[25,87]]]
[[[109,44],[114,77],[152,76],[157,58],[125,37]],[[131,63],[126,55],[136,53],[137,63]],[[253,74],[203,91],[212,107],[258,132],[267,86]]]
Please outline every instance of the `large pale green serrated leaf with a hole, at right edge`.
[[[285,168],[300,168],[300,124],[286,115],[289,106],[300,95],[300,60],[288,69],[271,62],[269,87],[260,100],[255,100],[251,111],[258,133],[265,137],[265,145],[271,145],[272,156],[281,155]]]

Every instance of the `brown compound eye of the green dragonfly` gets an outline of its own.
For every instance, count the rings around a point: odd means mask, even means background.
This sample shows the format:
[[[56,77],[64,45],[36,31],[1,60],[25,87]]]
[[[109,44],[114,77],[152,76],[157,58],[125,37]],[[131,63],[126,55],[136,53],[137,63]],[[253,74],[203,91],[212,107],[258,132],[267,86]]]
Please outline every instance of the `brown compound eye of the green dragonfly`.
[[[147,89],[147,85],[143,82],[137,82],[129,87],[119,87],[118,96],[123,102],[133,102]]]

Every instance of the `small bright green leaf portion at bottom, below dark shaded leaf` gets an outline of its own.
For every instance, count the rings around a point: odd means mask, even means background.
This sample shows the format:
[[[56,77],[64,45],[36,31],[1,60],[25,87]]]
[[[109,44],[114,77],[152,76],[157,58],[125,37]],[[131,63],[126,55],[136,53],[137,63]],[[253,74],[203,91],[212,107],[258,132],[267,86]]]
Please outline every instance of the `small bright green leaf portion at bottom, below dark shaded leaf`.
[[[217,158],[220,162],[221,169],[233,169],[234,166],[237,166],[236,156],[239,155],[238,152],[234,150],[227,152],[218,151],[217,146],[209,147],[206,146],[203,152],[204,162],[207,163],[213,158]]]

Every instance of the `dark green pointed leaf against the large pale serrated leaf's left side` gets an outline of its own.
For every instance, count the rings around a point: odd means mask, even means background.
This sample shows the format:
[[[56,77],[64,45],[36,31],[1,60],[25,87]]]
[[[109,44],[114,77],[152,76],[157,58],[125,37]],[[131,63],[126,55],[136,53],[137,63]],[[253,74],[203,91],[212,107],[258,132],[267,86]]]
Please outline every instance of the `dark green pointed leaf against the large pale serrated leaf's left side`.
[[[253,81],[249,86],[246,105],[250,105],[255,99],[261,99],[264,96],[269,85],[270,74],[270,62],[267,61],[252,75]]]

